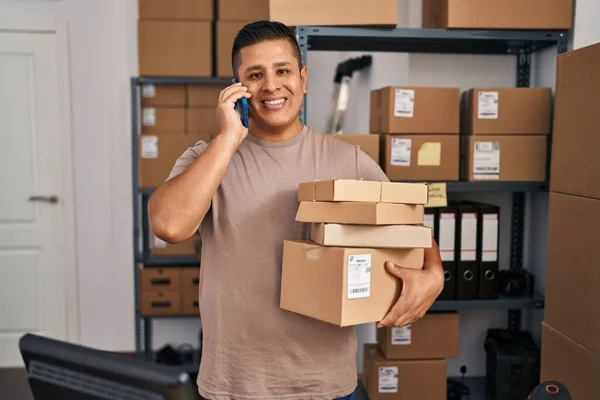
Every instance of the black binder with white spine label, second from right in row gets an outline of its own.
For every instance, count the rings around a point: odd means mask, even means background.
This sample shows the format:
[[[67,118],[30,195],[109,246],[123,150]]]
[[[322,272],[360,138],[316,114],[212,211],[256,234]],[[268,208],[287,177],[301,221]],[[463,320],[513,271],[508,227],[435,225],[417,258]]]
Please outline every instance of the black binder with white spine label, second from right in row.
[[[457,300],[477,299],[479,266],[477,263],[477,207],[468,202],[457,204],[456,260]]]

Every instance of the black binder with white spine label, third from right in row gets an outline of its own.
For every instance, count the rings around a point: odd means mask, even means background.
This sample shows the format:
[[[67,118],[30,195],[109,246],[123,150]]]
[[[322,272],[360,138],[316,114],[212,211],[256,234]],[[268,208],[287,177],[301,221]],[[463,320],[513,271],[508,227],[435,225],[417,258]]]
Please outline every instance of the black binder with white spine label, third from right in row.
[[[437,210],[438,245],[445,277],[438,300],[456,300],[456,212],[454,205]]]

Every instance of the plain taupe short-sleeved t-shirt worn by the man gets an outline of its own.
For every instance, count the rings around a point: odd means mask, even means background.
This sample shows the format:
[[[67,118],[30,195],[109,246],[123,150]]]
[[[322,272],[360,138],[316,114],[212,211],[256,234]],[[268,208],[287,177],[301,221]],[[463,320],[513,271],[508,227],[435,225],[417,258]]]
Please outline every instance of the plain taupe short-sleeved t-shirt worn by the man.
[[[186,150],[170,177],[207,146]],[[355,389],[354,327],[279,307],[283,241],[309,233],[295,221],[298,183],[334,178],[388,181],[357,146],[306,126],[282,142],[249,134],[233,156],[200,227],[203,397],[332,399]]]

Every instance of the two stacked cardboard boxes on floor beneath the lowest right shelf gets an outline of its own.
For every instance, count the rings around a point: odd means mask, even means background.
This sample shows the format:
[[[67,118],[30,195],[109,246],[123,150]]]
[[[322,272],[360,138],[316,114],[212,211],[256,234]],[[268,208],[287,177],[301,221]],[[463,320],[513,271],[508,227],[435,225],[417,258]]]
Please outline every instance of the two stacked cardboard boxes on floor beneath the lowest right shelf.
[[[445,400],[446,359],[459,355],[456,312],[431,312],[412,325],[379,328],[377,343],[364,346],[363,385],[371,400]]]

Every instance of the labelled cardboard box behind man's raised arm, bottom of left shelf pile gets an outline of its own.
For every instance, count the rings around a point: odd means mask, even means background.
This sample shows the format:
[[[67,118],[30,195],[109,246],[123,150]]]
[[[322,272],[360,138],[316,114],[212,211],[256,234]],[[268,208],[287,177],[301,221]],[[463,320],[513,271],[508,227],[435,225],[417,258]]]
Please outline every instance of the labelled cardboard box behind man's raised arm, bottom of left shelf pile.
[[[140,135],[140,186],[155,188],[163,183],[173,169],[175,161],[199,140],[205,139],[201,135],[184,133]]]

